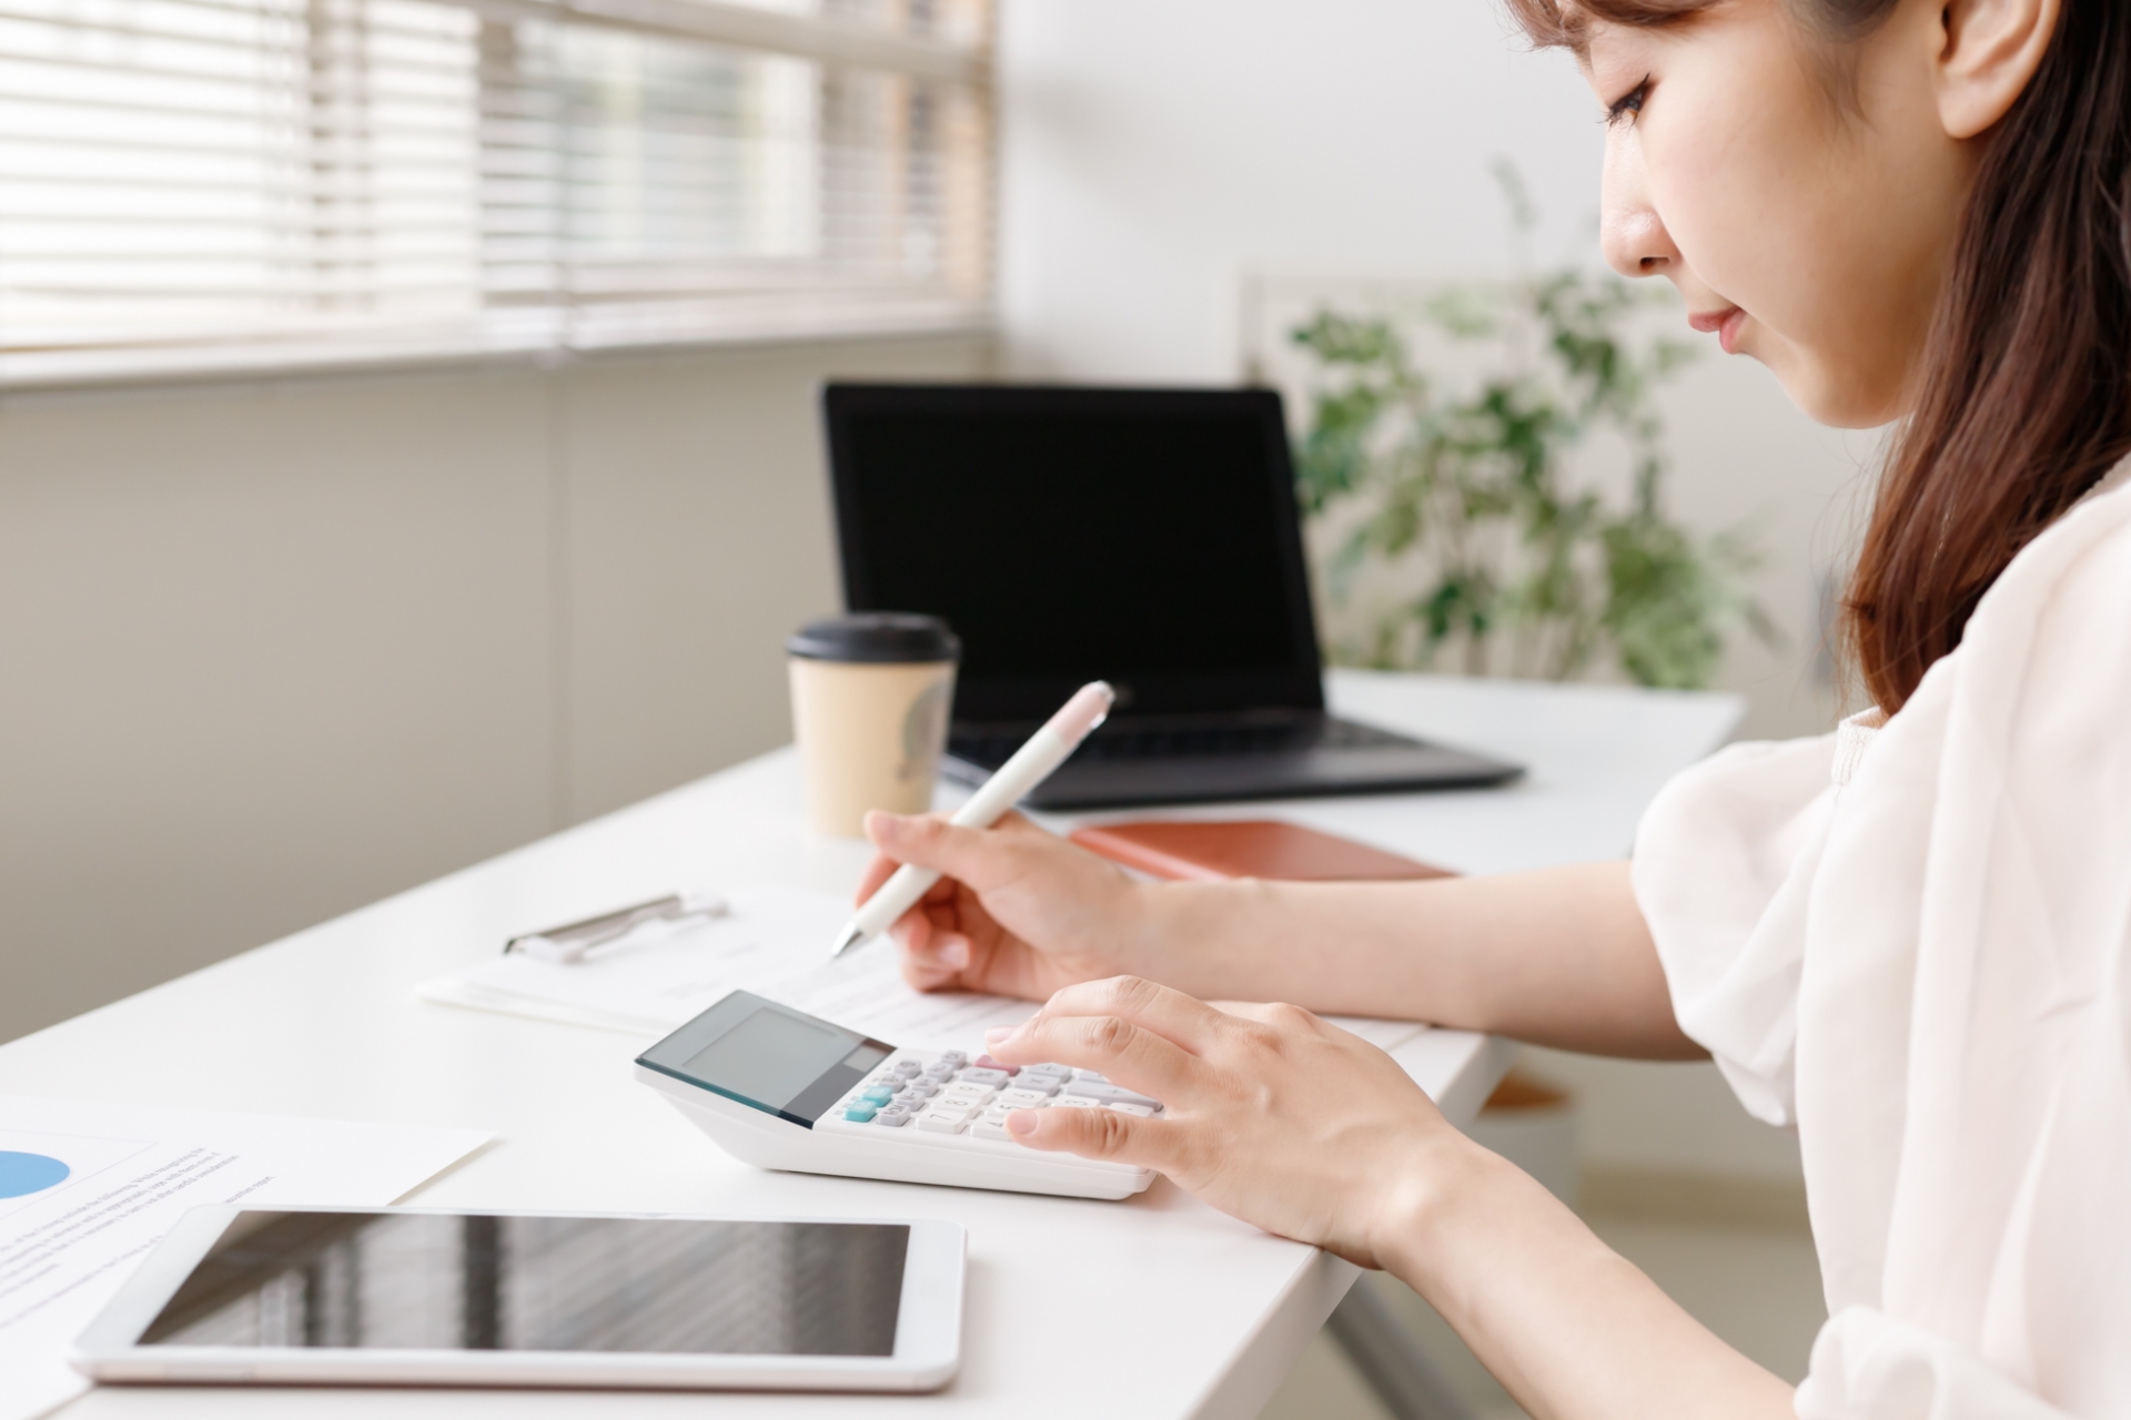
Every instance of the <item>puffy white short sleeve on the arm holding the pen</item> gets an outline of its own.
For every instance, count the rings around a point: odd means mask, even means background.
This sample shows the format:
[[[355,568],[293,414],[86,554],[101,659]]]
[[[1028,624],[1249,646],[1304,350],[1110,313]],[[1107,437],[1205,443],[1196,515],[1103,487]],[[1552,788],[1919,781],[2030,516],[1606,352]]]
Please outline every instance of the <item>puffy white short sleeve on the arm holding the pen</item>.
[[[1794,1122],[1805,898],[1833,762],[1833,734],[1733,745],[1664,786],[1634,837],[1634,901],[1679,1028],[1769,1124]]]

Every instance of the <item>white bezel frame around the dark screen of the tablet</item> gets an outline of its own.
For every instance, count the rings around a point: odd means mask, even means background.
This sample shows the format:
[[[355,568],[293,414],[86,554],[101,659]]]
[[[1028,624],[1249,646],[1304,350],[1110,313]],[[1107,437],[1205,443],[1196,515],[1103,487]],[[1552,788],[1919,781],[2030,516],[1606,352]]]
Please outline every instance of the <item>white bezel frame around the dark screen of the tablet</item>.
[[[136,1345],[224,1228],[245,1211],[430,1213],[465,1218],[654,1218],[690,1222],[829,1222],[910,1228],[893,1356],[671,1356],[637,1352],[456,1352],[251,1345]],[[961,1365],[959,1224],[927,1218],[735,1218],[729,1213],[571,1213],[441,1207],[198,1207],[156,1245],[68,1352],[98,1382],[595,1386],[658,1390],[938,1390]]]

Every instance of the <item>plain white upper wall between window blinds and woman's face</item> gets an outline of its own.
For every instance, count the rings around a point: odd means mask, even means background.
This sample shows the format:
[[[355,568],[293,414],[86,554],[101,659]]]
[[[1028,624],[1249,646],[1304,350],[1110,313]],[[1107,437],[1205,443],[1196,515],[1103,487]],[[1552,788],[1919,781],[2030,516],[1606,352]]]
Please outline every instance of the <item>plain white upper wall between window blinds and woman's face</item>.
[[[1490,0],[1002,0],[1008,360],[1230,381],[1245,273],[1500,275],[1487,164],[1581,249],[1600,130]]]

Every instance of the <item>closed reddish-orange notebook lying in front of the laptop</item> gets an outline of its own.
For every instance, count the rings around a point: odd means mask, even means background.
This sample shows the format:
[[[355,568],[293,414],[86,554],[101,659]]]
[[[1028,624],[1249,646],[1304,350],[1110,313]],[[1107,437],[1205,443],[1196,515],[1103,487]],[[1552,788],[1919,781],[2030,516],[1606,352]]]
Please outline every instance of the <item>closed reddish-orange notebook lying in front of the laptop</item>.
[[[1072,841],[1153,877],[1272,877],[1285,881],[1398,881],[1451,877],[1368,843],[1279,820],[1191,824],[1138,820],[1074,828]]]

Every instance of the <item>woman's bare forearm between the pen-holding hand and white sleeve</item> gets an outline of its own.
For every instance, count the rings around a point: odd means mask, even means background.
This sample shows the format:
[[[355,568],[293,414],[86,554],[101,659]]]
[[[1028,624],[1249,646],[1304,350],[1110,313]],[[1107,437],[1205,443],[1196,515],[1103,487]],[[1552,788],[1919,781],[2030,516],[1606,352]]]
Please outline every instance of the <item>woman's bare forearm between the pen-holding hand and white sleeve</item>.
[[[1673,1016],[1626,862],[1417,884],[1166,884],[1146,898],[1146,958],[1195,996],[1590,1054],[1703,1054]]]

